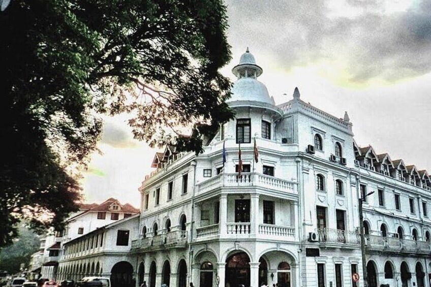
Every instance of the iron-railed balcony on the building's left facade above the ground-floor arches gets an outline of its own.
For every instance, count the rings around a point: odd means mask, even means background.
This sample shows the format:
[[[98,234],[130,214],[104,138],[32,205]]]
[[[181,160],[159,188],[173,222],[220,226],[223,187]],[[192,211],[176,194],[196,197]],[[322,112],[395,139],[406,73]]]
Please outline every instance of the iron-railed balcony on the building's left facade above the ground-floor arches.
[[[153,237],[140,238],[132,241],[132,250],[145,251],[167,248],[184,248],[187,246],[187,231],[177,230]]]

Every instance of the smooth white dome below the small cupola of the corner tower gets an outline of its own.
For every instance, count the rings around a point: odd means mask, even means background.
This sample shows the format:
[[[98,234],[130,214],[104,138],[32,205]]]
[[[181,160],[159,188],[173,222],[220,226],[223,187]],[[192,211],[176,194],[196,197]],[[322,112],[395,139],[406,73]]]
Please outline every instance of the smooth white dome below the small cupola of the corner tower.
[[[256,101],[273,104],[265,85],[254,78],[241,78],[233,83],[232,95],[226,102]]]

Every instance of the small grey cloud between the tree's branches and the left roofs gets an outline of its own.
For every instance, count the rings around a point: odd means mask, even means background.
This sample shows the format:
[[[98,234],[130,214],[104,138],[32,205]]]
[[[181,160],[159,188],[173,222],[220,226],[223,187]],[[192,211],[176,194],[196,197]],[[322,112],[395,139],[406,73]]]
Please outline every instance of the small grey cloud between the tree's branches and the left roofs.
[[[122,126],[112,122],[106,122],[103,127],[102,143],[116,148],[136,147],[137,143],[133,140],[132,134]]]

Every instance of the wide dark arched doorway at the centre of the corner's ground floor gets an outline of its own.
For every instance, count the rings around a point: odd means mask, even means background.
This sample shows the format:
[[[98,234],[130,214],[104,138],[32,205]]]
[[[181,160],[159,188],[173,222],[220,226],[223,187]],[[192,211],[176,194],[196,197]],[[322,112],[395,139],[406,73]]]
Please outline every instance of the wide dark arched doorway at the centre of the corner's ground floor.
[[[250,258],[245,252],[235,253],[226,260],[225,285],[238,287],[239,284],[250,286]]]

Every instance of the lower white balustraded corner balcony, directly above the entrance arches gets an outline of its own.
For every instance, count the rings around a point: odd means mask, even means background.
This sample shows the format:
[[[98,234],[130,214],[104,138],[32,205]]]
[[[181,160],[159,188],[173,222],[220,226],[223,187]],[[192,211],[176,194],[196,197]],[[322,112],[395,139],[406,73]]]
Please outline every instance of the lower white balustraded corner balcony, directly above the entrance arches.
[[[295,228],[291,226],[277,226],[272,224],[259,224],[258,233],[252,230],[250,222],[228,222],[226,233],[220,233],[220,225],[214,224],[196,229],[198,240],[217,238],[266,238],[275,240],[295,240]]]

